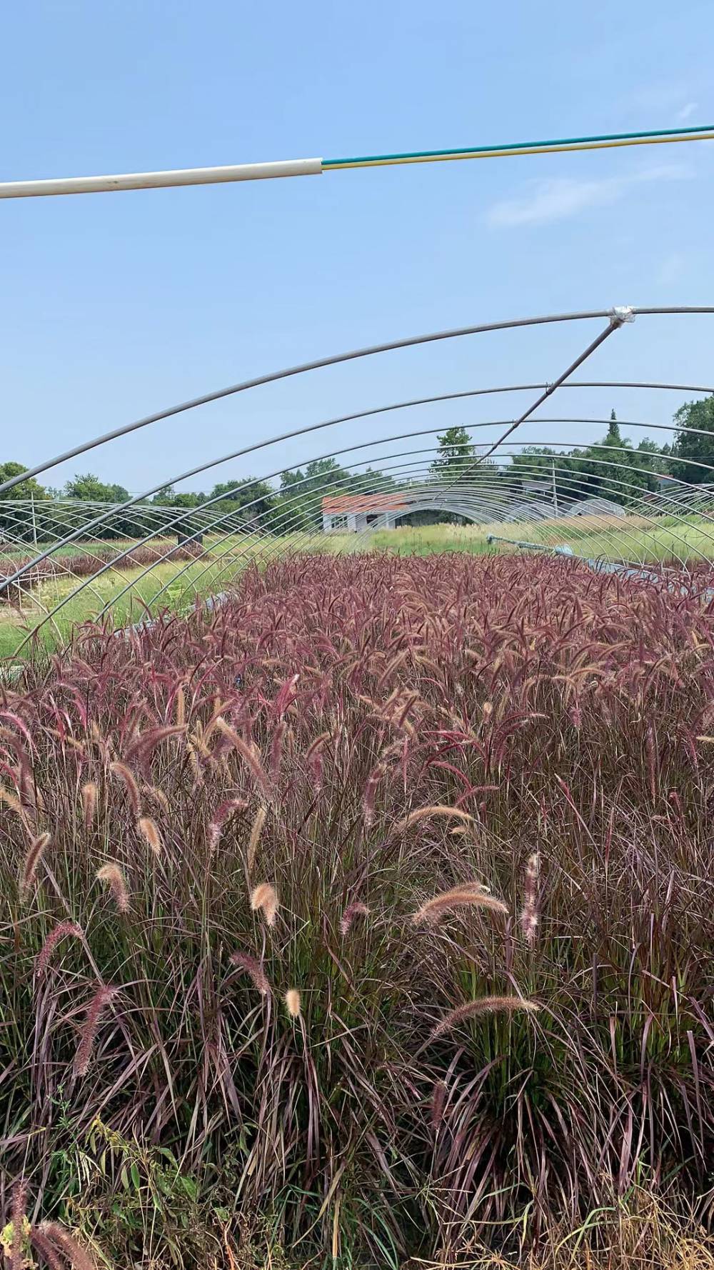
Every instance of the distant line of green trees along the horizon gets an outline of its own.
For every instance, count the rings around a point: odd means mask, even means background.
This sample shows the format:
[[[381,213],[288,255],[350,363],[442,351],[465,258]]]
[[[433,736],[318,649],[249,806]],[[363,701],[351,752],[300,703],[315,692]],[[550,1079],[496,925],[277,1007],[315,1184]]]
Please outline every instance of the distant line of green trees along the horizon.
[[[710,484],[714,466],[714,396],[680,406],[673,417],[673,427],[672,443],[659,446],[650,437],[644,437],[634,446],[621,436],[612,410],[607,433],[597,444],[568,450],[525,446],[521,452],[511,456],[507,465],[489,465],[489,488],[490,481],[507,483],[513,490],[526,480],[548,479],[550,484],[555,483],[558,497],[601,497],[626,507],[637,503],[643,493],[656,491],[663,475],[691,485]],[[687,429],[696,431],[692,433]],[[482,464],[483,457],[479,458],[466,428],[454,427],[438,436],[437,453],[429,474],[437,480],[473,480],[475,467]],[[25,470],[18,462],[0,464],[0,483],[19,476]],[[126,514],[119,508],[105,526],[93,531],[93,537],[144,536],[152,523],[151,507],[183,512],[177,530],[185,535],[199,532],[208,513],[216,522],[230,519],[231,527],[243,526],[246,531],[255,526],[281,533],[313,531],[321,525],[321,499],[325,495],[377,494],[395,489],[396,484],[399,489],[405,489],[422,481],[423,475],[399,479],[396,483],[389,471],[371,467],[351,471],[334,458],[318,458],[305,467],[282,472],[277,489],[253,476],[219,483],[207,493],[177,494],[173,485],[166,485],[154,498],[127,508]],[[79,522],[71,513],[72,500],[121,505],[130,500],[130,493],[123,485],[107,484],[93,472],[84,472],[75,475],[62,489],[44,486],[28,476],[8,494],[0,495],[0,499],[32,500],[32,523],[27,513],[19,516],[19,508],[13,512],[11,508],[0,505],[0,532],[6,537],[29,541],[33,536],[55,537],[64,526],[74,528]],[[57,505],[58,500],[66,502],[65,508]],[[47,505],[50,502],[52,508]],[[46,504],[44,508],[42,504]],[[189,513],[201,508],[205,508],[206,514],[192,518]],[[424,522],[448,519],[448,516],[418,512],[410,518]]]

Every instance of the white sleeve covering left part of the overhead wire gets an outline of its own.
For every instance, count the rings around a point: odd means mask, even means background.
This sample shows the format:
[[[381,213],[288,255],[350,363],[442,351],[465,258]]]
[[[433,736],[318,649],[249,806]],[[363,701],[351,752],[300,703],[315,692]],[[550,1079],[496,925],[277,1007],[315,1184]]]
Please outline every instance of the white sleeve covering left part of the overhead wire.
[[[132,171],[121,177],[66,177],[50,180],[6,180],[0,198],[46,194],[103,194],[113,189],[163,189],[169,185],[213,185],[231,180],[271,180],[274,177],[319,177],[321,159],[241,163],[227,168],[179,168],[177,171]]]

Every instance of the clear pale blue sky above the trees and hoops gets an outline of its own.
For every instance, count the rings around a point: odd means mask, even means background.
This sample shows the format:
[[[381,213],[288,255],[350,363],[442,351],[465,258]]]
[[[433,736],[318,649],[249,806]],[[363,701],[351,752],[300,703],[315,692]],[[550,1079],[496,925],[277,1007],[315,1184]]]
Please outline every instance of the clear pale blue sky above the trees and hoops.
[[[1,179],[713,123],[713,38],[711,5],[687,0],[13,5]],[[714,147],[700,142],[1,202],[1,458],[34,465],[174,401],[400,335],[614,304],[711,304],[713,196]],[[159,423],[47,480],[90,469],[137,491],[335,414],[553,380],[596,330],[489,334],[319,371]],[[713,335],[711,318],[638,319],[587,377],[708,384]],[[389,432],[508,419],[527,400],[343,425],[329,442],[291,442],[183,488]],[[615,406],[667,423],[681,400],[572,390],[540,414]],[[518,436],[581,442],[602,431],[534,422]]]

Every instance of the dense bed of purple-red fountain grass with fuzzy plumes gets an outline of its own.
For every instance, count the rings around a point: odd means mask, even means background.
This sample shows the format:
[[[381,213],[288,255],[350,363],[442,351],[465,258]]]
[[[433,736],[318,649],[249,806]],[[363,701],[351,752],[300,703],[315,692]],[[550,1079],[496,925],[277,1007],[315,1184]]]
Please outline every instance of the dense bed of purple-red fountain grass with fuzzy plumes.
[[[41,1265],[711,1270],[694,596],[293,558],[1,712],[0,1201]]]

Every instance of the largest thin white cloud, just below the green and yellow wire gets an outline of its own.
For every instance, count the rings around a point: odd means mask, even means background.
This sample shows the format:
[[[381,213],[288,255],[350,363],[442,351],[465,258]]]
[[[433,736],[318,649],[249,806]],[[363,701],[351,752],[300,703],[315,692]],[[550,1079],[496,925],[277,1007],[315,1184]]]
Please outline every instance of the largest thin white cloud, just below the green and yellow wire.
[[[691,177],[684,165],[643,168],[626,177],[605,177],[601,180],[577,180],[573,177],[553,177],[549,180],[530,182],[526,193],[506,198],[487,212],[492,229],[515,229],[521,225],[548,225],[568,220],[592,207],[611,207],[620,202],[633,187],[661,180],[686,180]]]

